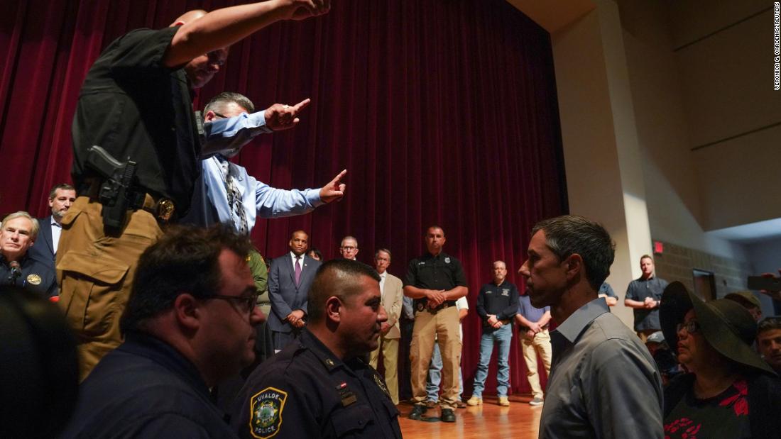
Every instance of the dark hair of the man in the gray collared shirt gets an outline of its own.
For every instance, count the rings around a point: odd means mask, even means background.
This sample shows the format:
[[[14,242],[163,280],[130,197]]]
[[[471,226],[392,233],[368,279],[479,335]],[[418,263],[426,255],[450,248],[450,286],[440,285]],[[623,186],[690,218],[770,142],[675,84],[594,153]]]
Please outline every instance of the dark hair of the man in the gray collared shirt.
[[[532,236],[545,232],[545,244],[558,260],[577,253],[586,265],[586,277],[595,291],[610,274],[615,257],[615,243],[600,224],[575,215],[563,215],[538,222]]]

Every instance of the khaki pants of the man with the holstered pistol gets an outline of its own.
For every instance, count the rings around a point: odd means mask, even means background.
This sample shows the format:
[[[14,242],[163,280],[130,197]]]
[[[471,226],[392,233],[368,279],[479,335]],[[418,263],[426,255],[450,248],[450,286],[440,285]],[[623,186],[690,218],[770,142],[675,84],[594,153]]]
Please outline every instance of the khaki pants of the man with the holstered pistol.
[[[151,198],[150,198],[151,200]],[[106,235],[102,205],[77,198],[62,218],[57,250],[59,306],[77,335],[80,379],[122,342],[122,315],[138,257],[162,235],[147,211],[128,212],[121,234]]]

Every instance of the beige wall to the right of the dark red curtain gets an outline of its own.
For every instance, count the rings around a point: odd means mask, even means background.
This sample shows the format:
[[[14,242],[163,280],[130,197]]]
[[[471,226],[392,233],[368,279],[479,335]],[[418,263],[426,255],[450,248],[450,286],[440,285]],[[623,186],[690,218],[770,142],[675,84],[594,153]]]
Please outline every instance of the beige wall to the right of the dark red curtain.
[[[708,231],[781,217],[772,2],[594,0],[562,23],[510,1],[551,31],[570,210],[613,235],[619,296],[651,237],[729,260],[709,267],[740,287],[753,261]]]

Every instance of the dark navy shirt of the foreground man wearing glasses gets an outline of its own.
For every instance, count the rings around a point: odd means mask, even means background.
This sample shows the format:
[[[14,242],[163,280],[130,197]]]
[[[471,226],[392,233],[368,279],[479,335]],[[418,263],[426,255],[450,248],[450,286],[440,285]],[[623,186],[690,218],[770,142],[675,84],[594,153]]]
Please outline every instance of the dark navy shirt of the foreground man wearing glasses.
[[[150,335],[127,334],[79,393],[63,439],[236,437],[194,364]]]

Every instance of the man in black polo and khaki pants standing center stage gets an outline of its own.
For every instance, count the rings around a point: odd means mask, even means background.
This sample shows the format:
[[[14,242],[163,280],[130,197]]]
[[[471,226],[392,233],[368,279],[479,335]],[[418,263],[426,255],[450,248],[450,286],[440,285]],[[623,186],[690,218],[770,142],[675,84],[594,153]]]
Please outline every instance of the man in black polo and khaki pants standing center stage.
[[[455,422],[458,401],[458,367],[461,364],[461,338],[458,335],[458,309],[455,301],[469,291],[466,276],[455,257],[442,251],[444,230],[432,225],[424,236],[422,257],[409,261],[404,294],[415,299],[415,327],[412,329],[412,401],[415,407],[409,419],[419,420],[426,412],[426,374],[434,339],[442,352],[442,396],[440,419]]]

